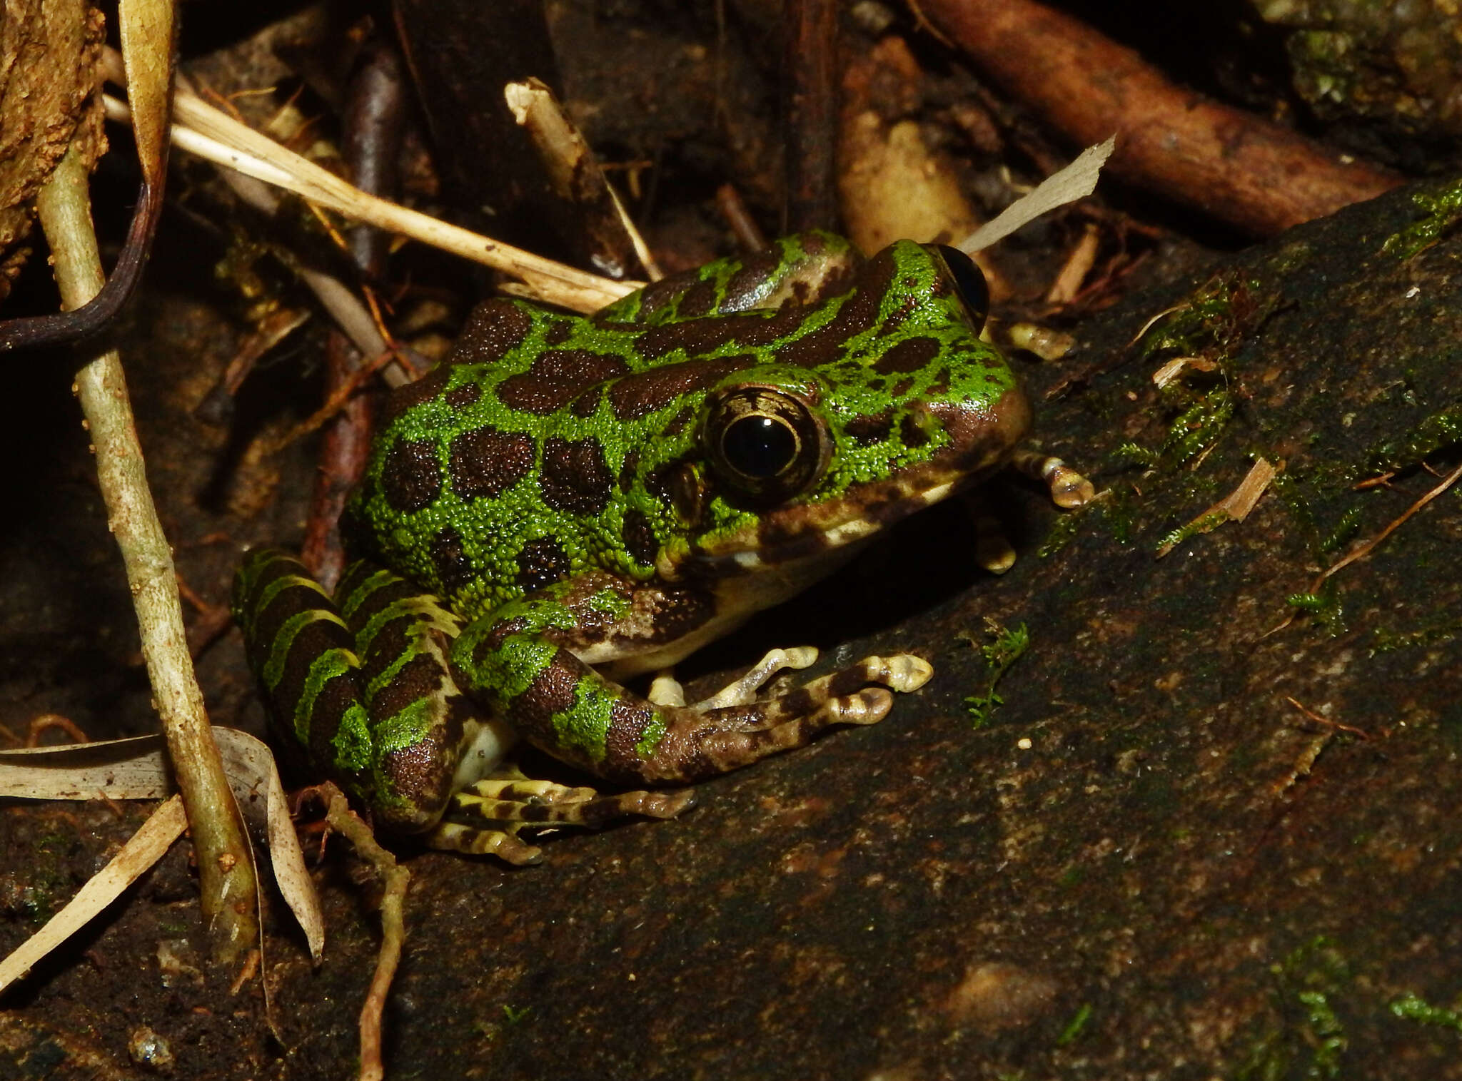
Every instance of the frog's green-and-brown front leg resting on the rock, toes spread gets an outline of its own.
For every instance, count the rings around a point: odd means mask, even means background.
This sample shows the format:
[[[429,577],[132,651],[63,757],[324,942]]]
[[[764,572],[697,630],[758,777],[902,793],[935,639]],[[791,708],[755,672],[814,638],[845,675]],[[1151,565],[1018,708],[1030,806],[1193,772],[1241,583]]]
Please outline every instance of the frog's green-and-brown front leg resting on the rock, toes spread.
[[[893,691],[931,675],[920,657],[874,656],[768,701],[751,701],[754,687],[738,681],[705,703],[673,706],[633,694],[577,656],[598,657],[594,644],[604,643],[626,653],[648,647],[658,625],[648,614],[665,602],[591,573],[466,627],[452,649],[453,672],[528,742],[629,784],[699,780],[801,746],[830,725],[871,725],[887,714]]]

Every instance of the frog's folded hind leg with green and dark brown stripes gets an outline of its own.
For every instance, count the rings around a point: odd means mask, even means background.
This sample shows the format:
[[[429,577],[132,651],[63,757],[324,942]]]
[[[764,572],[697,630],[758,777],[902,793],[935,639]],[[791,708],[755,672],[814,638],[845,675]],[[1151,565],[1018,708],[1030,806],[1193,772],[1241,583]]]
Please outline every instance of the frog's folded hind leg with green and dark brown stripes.
[[[689,793],[601,796],[503,771],[516,735],[458,690],[446,660],[456,616],[368,562],[351,565],[338,593],[339,603],[298,561],[265,549],[240,568],[234,612],[279,725],[377,824],[523,863],[538,849],[520,830],[670,818],[690,805]]]

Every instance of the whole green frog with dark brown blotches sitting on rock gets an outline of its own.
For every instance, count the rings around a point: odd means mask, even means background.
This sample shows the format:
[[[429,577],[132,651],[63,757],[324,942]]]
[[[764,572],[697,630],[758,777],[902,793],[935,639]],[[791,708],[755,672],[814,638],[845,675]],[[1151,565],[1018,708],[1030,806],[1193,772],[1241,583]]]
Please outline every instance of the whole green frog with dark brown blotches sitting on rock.
[[[769,700],[655,672],[1001,466],[1029,410],[952,248],[858,261],[803,234],[579,318],[494,299],[398,390],[346,514],[332,602],[254,552],[234,611],[282,726],[379,824],[532,862],[525,827],[670,817],[690,793],[523,777],[518,738],[620,786],[690,782],[880,720],[928,679],[866,657]]]

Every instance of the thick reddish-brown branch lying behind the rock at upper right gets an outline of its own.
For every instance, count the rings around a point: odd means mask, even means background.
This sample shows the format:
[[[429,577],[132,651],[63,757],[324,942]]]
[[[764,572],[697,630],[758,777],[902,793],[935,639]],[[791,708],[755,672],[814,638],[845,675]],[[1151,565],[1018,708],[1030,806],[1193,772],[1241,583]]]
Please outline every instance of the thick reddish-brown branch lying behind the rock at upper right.
[[[1111,169],[1256,237],[1401,183],[1287,127],[1168,82],[1133,50],[1034,0],[921,0],[1007,92],[1080,145],[1117,131]]]

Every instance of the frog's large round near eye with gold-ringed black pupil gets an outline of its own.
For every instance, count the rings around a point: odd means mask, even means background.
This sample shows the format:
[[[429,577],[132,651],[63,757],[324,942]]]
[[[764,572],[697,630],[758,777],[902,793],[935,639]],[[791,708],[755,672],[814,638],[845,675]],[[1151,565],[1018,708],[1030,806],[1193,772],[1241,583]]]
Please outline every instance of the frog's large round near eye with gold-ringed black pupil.
[[[757,501],[787,500],[811,488],[832,447],[826,424],[806,402],[760,386],[713,396],[702,441],[721,481]]]

